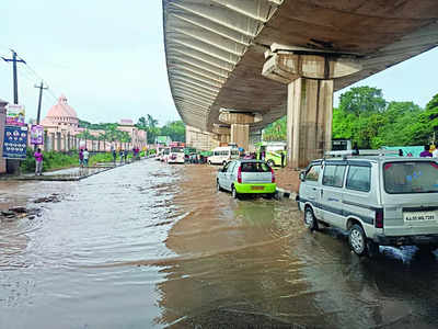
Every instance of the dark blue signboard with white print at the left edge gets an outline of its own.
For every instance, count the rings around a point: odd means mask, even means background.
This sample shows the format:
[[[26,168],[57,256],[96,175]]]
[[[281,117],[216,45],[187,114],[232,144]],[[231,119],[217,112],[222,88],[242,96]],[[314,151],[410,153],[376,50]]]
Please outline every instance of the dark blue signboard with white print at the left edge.
[[[27,126],[5,126],[3,139],[3,158],[25,159],[27,147]]]

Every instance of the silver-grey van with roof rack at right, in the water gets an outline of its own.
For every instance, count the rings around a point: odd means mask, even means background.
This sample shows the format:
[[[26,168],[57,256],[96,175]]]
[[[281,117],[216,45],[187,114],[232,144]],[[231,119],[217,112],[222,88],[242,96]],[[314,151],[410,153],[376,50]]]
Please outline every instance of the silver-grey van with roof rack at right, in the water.
[[[376,254],[379,245],[436,249],[437,160],[365,154],[315,160],[300,173],[297,201],[304,225],[346,230],[358,256]]]

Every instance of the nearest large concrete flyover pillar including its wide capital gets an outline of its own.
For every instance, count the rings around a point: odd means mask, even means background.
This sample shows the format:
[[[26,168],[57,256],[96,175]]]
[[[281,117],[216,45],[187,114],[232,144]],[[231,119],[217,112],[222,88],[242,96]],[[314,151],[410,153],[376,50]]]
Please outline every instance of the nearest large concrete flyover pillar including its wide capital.
[[[262,75],[288,84],[288,166],[304,168],[332,147],[334,80],[360,71],[361,64],[339,54],[270,48]]]

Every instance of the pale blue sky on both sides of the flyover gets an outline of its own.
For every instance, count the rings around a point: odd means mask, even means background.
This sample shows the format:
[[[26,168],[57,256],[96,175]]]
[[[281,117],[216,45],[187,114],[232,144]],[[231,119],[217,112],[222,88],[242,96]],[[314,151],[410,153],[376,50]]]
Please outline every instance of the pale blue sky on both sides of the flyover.
[[[151,114],[160,124],[178,120],[169,88],[161,0],[2,0],[0,55],[14,49],[19,101],[42,118],[61,93],[81,120],[118,122]],[[382,89],[388,101],[425,106],[438,92],[438,49],[422,54],[351,87]],[[347,89],[335,93],[338,97]],[[12,65],[0,61],[0,98],[13,101]]]

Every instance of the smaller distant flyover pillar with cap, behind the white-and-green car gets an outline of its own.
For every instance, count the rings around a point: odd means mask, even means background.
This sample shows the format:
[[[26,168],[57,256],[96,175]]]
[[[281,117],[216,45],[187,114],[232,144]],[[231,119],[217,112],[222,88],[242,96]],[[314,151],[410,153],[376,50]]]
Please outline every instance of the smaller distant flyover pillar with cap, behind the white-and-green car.
[[[244,150],[250,147],[250,125],[261,122],[260,114],[247,112],[221,111],[219,121],[231,125],[230,128],[230,143],[237,144]]]

